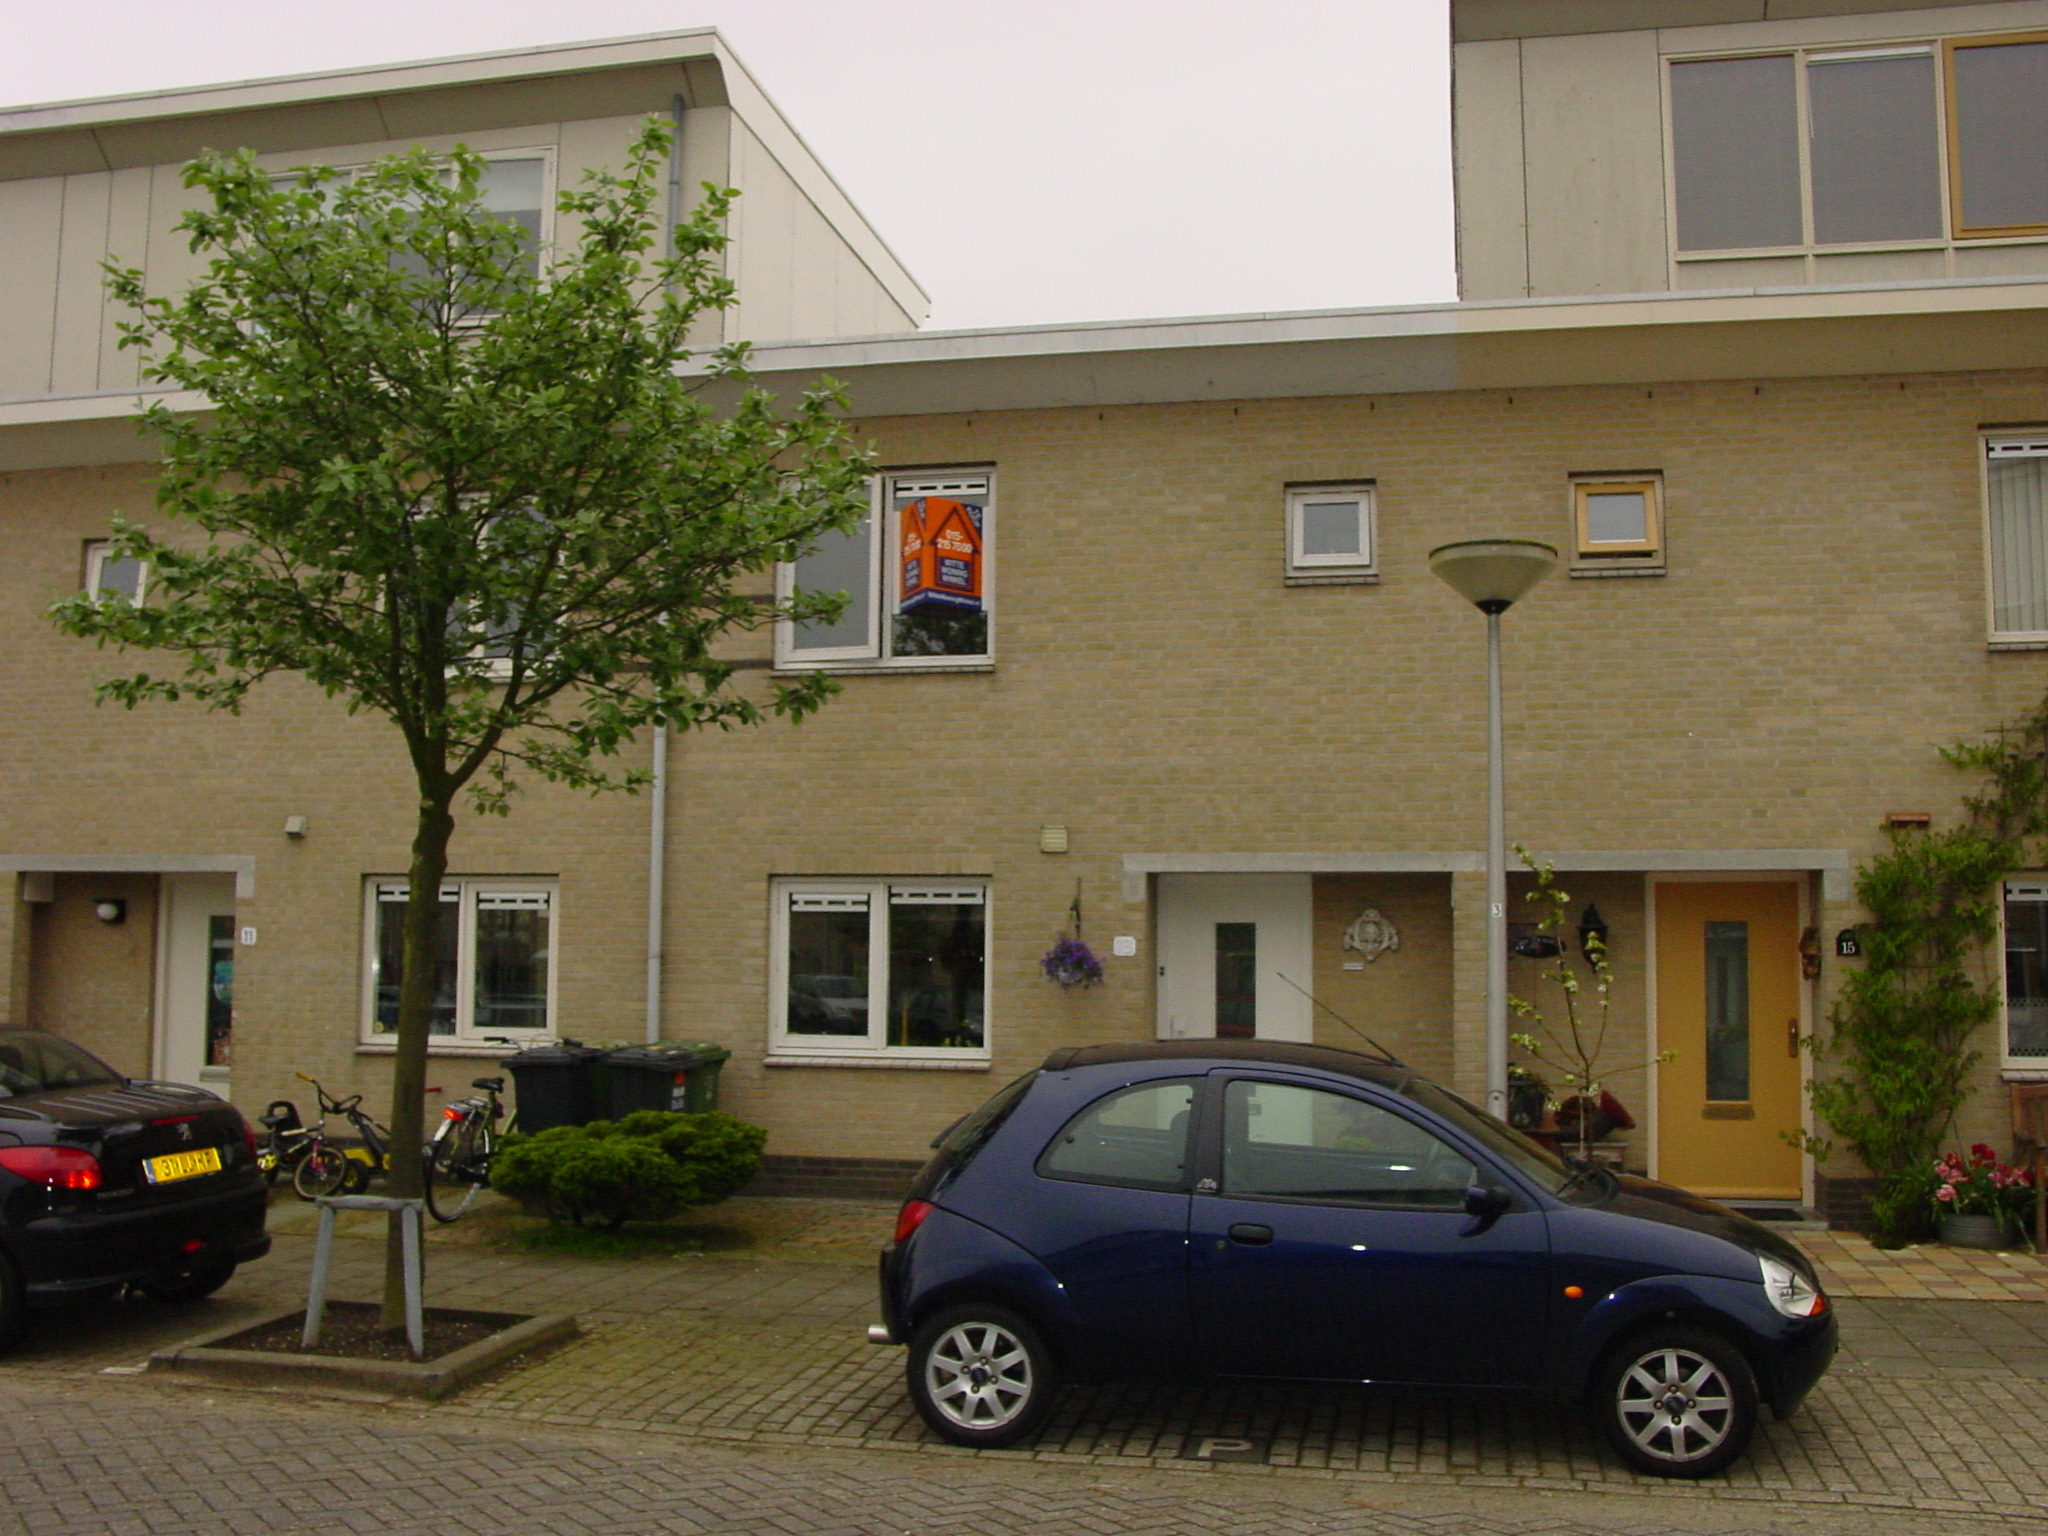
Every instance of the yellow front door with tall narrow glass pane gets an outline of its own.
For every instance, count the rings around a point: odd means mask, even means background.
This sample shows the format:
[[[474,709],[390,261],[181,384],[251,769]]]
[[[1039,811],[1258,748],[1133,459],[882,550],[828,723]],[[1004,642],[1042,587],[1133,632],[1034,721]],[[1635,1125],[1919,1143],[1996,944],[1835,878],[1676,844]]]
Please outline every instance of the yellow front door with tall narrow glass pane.
[[[1657,887],[1657,1176],[1710,1196],[1800,1198],[1798,887]]]

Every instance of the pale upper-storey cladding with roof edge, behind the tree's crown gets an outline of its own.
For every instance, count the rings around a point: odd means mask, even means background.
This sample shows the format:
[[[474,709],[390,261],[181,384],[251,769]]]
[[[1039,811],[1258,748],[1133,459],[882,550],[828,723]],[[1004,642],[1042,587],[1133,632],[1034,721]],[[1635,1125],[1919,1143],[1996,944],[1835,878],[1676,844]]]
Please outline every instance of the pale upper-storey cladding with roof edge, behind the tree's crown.
[[[135,389],[127,315],[102,262],[174,293],[201,258],[176,231],[201,150],[254,150],[279,172],[422,145],[483,154],[487,199],[551,238],[557,188],[621,168],[649,115],[676,123],[674,199],[739,188],[723,336],[903,332],[928,299],[715,31],[346,70],[0,111],[0,401]]]

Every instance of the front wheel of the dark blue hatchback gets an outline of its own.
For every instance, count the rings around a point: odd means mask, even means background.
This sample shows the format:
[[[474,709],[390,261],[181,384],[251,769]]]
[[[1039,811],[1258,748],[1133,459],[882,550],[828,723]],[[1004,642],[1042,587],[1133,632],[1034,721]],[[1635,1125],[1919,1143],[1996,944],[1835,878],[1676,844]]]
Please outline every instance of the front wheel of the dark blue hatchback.
[[[1718,1333],[1661,1327],[1608,1352],[1591,1407],[1602,1436],[1638,1473],[1712,1477],[1749,1446],[1757,1376]]]

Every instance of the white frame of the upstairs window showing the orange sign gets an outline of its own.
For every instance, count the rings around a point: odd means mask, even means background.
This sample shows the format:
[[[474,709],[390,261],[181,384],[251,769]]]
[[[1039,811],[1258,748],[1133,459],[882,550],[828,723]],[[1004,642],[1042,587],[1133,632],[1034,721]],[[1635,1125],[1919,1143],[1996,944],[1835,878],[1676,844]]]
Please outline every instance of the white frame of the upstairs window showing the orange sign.
[[[981,498],[981,610],[989,625],[987,649],[975,655],[893,655],[897,561],[893,551],[901,543],[901,520],[897,500],[915,489],[922,496],[950,496],[954,500]],[[868,598],[858,612],[866,618],[866,637],[854,645],[819,645],[797,649],[797,627],[776,621],[774,664],[786,672],[856,670],[856,672],[987,672],[995,664],[995,524],[997,524],[995,465],[965,465],[942,469],[885,469],[868,483],[868,520],[864,524],[868,549],[864,569],[868,573]],[[797,592],[795,563],[776,565],[774,592],[778,602],[788,602]],[[856,600],[858,602],[858,600]],[[854,610],[850,610],[854,612]]]

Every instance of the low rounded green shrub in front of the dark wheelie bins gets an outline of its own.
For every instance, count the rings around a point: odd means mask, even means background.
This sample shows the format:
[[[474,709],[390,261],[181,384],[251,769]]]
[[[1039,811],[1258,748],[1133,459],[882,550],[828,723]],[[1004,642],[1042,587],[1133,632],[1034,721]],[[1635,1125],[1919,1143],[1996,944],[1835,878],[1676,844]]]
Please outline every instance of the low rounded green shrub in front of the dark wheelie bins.
[[[639,1110],[510,1137],[492,1186],[557,1221],[618,1229],[717,1204],[760,1169],[768,1133],[729,1114]]]

